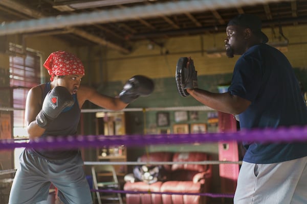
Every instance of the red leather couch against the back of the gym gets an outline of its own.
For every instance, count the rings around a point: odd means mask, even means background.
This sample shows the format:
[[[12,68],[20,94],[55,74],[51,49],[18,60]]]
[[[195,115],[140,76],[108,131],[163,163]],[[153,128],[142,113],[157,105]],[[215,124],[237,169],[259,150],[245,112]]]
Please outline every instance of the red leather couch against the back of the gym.
[[[141,156],[140,162],[193,162],[207,161],[211,157],[205,152],[151,152]],[[125,191],[205,193],[210,192],[212,165],[203,164],[167,164],[166,181],[152,184],[143,181],[126,182]],[[127,193],[126,204],[206,204],[208,197],[200,195]]]

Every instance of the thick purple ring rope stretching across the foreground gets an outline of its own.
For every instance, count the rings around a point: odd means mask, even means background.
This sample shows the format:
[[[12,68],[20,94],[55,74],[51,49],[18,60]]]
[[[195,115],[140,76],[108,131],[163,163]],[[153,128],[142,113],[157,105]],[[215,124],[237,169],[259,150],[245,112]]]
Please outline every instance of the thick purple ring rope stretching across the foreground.
[[[162,134],[162,135],[124,135],[124,136],[58,136],[38,138],[31,142],[15,142],[14,139],[0,140],[0,149],[27,148],[78,148],[100,146],[144,146],[158,144],[205,143],[217,141],[254,142],[293,142],[307,141],[307,126],[292,126],[278,129],[254,129],[226,133],[206,134]]]

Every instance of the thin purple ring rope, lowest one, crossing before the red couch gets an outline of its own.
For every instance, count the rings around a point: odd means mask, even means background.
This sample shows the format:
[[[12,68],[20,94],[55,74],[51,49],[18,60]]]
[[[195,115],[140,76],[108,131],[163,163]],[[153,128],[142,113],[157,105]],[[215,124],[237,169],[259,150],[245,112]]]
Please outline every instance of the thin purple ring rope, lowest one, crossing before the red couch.
[[[92,192],[101,192],[101,193],[129,193],[129,194],[167,194],[167,195],[200,195],[208,197],[228,197],[233,198],[233,194],[225,193],[184,193],[184,192],[156,192],[156,191],[123,191],[123,190],[96,190],[91,189]]]

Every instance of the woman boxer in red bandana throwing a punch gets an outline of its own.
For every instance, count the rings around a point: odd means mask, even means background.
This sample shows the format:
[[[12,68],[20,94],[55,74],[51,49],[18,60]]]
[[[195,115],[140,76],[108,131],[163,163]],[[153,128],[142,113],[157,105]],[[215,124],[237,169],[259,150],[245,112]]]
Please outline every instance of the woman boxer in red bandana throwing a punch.
[[[124,86],[118,97],[98,93],[81,86],[84,67],[75,55],[52,53],[43,66],[51,82],[33,87],[27,96],[25,118],[30,141],[46,136],[68,136],[77,133],[81,107],[86,100],[109,109],[122,110],[140,95],[153,91],[153,82],[136,75]],[[47,200],[51,183],[58,189],[63,203],[92,203],[89,185],[78,149],[26,148],[19,157],[9,203],[37,203]]]

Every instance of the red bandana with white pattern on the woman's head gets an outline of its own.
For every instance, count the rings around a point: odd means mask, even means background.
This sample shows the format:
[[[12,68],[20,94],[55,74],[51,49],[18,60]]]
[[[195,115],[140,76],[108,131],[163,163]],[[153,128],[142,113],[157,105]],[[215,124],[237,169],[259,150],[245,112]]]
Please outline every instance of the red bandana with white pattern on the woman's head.
[[[79,58],[65,51],[51,53],[43,66],[51,75],[50,81],[55,76],[64,76],[70,74],[84,75],[84,66]]]

